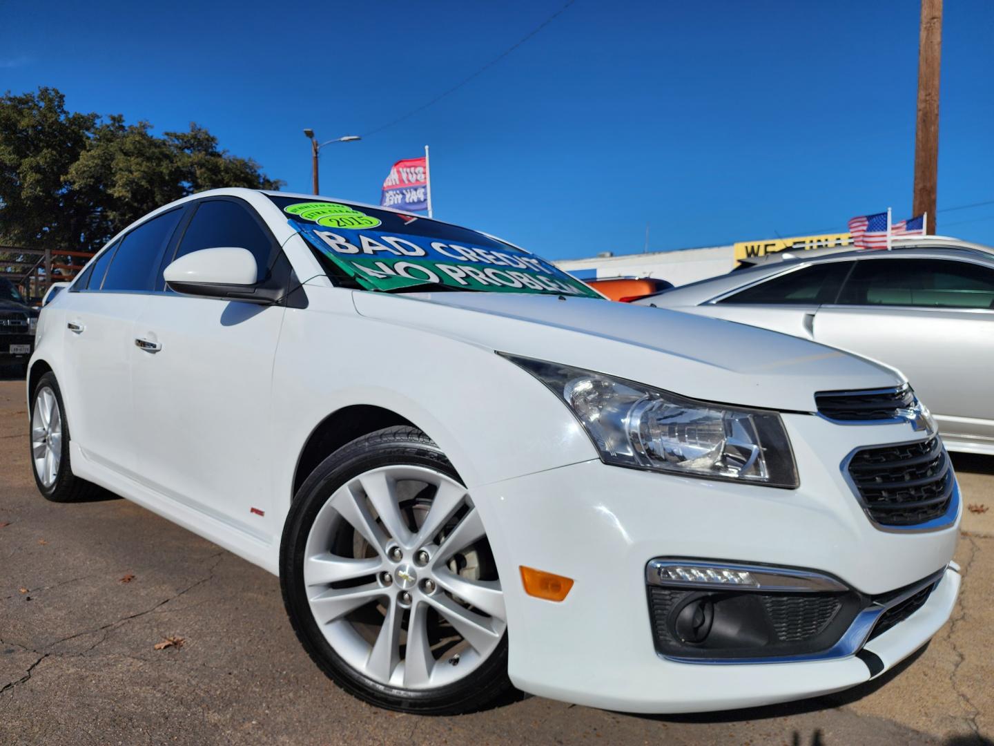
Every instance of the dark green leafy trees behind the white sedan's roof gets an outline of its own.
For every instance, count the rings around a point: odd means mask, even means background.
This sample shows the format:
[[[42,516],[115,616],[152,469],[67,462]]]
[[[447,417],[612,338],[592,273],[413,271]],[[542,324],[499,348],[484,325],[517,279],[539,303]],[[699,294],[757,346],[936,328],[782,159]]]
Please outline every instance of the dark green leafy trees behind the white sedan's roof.
[[[156,136],[66,108],[55,89],[0,97],[0,244],[95,251],[168,202],[205,189],[278,189],[206,128]]]

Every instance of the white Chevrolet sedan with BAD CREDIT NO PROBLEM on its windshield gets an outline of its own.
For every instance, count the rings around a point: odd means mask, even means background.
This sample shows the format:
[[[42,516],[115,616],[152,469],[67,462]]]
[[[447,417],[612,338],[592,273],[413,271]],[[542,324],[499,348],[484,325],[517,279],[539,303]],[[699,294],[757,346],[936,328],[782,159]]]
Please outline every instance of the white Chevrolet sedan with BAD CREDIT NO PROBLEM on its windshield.
[[[959,589],[956,479],[900,374],[414,215],[167,205],[43,309],[28,395],[46,497],[99,485],[278,575],[317,665],[385,707],[812,696]]]

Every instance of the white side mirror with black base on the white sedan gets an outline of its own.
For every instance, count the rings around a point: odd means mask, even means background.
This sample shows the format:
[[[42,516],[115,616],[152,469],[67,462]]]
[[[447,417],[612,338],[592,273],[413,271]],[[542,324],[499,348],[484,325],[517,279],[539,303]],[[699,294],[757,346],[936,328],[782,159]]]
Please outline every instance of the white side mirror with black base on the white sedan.
[[[255,258],[247,249],[219,247],[202,249],[180,257],[164,273],[166,284],[185,295],[272,303],[278,288],[257,284]]]

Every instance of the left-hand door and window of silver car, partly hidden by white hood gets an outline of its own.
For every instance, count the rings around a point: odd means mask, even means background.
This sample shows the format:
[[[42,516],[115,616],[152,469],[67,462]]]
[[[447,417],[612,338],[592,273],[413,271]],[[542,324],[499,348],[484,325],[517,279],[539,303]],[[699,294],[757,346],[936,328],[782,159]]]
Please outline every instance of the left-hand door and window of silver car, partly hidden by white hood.
[[[704,303],[695,312],[810,339],[815,312],[835,300],[851,262],[817,262]]]

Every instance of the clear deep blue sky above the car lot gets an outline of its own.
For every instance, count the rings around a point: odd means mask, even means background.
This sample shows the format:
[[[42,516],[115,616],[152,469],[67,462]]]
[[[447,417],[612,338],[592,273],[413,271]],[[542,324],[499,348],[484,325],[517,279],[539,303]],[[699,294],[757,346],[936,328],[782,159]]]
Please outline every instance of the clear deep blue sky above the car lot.
[[[207,126],[290,191],[312,127],[366,134],[560,9],[504,2],[0,0],[0,91]],[[41,15],[40,15],[41,14]],[[44,22],[41,22],[44,21]],[[918,5],[576,0],[463,89],[322,151],[321,191],[379,201],[431,146],[435,217],[552,259],[844,231],[911,214]],[[946,3],[942,233],[994,244],[994,3]]]

